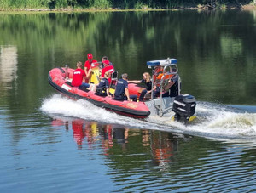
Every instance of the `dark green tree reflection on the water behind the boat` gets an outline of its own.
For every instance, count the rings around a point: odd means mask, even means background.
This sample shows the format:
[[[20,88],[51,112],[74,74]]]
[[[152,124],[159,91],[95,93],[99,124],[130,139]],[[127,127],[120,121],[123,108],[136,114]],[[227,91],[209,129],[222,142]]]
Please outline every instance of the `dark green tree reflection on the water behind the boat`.
[[[147,60],[177,58],[183,93],[255,104],[254,20],[253,12],[237,11],[1,14],[0,44],[14,45],[18,54],[9,103],[33,109],[52,92],[49,70],[74,67],[90,52],[97,60],[108,55],[119,74],[127,72],[131,79],[148,71]]]

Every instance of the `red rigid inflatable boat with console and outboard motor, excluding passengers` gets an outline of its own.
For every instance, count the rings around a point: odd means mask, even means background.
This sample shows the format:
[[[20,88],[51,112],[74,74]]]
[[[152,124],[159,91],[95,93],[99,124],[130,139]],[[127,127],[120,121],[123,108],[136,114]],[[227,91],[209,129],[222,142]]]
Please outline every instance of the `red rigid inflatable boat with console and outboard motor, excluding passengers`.
[[[49,71],[49,84],[58,90],[61,94],[67,95],[72,99],[85,99],[96,106],[103,107],[109,111],[114,111],[124,116],[132,116],[135,118],[146,118],[149,115],[154,117],[171,117],[172,120],[180,122],[190,122],[195,116],[195,97],[190,94],[180,94],[180,77],[177,76],[177,60],[164,59],[153,60],[147,62],[148,68],[152,69],[152,85],[160,88],[160,95],[156,98],[151,92],[150,99],[144,102],[119,101],[107,96],[99,96],[89,89],[71,86],[74,69],[66,67],[58,67]],[[93,65],[92,65],[93,66]],[[100,79],[100,67],[94,65],[92,68],[91,84],[97,84]],[[172,78],[177,76],[177,95],[172,97],[163,97],[167,82],[173,81]],[[112,82],[110,83],[110,93],[114,92],[114,81],[118,80],[118,73],[112,73]],[[152,87],[152,88],[153,88]],[[128,89],[130,94],[137,94],[139,97],[145,88],[139,87],[137,84],[129,83]]]

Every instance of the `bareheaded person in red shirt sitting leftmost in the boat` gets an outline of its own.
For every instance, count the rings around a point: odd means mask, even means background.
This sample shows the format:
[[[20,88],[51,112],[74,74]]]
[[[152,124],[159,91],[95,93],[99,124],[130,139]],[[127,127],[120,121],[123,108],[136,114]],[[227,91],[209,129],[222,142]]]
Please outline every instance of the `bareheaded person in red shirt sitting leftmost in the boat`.
[[[82,62],[77,62],[77,69],[73,71],[73,80],[71,82],[71,85],[73,87],[80,87],[80,88],[89,88],[90,84],[84,83],[85,73],[82,69],[83,64]]]

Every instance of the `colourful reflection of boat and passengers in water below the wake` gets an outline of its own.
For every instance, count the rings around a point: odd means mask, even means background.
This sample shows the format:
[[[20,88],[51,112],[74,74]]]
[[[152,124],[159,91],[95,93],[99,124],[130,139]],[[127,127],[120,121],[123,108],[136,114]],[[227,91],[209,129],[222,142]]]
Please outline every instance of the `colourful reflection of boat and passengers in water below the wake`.
[[[147,153],[151,156],[152,162],[162,167],[165,166],[166,162],[172,162],[172,156],[178,151],[179,139],[187,142],[192,139],[189,135],[148,129],[131,129],[120,125],[85,121],[79,118],[54,117],[52,118],[52,126],[65,128],[67,131],[72,129],[73,139],[79,150],[83,149],[84,145],[86,145],[86,149],[94,149],[96,144],[101,144],[103,155],[108,156],[116,154],[117,149],[123,153],[127,150],[131,153],[131,146],[136,144],[139,145],[136,148],[148,150]]]

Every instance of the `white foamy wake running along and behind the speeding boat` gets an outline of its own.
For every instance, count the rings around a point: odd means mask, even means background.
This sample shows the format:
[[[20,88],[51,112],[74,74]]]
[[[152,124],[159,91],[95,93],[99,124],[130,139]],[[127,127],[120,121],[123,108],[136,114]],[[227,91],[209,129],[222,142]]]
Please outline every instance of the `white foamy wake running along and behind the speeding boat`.
[[[256,106],[218,105],[197,102],[195,121],[184,125],[171,118],[148,117],[145,120],[119,116],[85,100],[74,101],[61,94],[43,99],[41,111],[59,116],[73,116],[88,121],[120,124],[129,128],[154,129],[212,139],[256,139]]]

